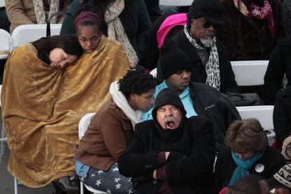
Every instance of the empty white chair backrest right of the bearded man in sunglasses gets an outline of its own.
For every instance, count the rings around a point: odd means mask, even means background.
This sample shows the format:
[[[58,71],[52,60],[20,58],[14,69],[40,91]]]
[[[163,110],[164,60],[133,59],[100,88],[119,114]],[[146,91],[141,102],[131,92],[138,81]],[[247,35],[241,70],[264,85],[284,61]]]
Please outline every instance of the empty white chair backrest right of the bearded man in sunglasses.
[[[269,60],[231,61],[238,86],[264,85],[264,76],[268,64]]]

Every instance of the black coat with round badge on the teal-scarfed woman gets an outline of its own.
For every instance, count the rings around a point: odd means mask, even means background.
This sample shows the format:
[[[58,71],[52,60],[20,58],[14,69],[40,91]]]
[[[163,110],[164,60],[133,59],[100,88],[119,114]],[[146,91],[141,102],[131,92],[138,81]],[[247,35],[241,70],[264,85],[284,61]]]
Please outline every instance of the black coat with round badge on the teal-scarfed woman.
[[[262,172],[258,172],[258,164],[264,165],[264,170]],[[257,174],[263,179],[271,179],[285,164],[286,162],[283,155],[268,145],[264,155],[252,165],[250,174]],[[219,153],[214,172],[214,193],[219,193],[222,188],[227,186],[236,167],[233,157],[231,157],[231,150],[226,148]]]

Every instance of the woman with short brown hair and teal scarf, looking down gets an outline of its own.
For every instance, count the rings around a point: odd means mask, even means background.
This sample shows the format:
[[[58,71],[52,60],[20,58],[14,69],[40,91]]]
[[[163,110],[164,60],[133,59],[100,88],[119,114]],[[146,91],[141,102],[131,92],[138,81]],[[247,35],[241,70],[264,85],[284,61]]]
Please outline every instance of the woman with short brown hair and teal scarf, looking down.
[[[285,165],[283,155],[268,145],[263,127],[257,119],[237,120],[226,131],[226,149],[216,161],[214,193],[233,186],[242,176],[257,174],[271,179]]]

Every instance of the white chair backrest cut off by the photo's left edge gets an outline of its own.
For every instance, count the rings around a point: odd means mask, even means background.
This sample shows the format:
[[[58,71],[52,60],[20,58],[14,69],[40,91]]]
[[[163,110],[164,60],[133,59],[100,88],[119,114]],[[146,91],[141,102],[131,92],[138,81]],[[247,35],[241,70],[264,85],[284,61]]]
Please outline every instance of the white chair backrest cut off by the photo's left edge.
[[[12,38],[6,30],[0,29],[0,59],[8,58],[8,53],[12,51]]]

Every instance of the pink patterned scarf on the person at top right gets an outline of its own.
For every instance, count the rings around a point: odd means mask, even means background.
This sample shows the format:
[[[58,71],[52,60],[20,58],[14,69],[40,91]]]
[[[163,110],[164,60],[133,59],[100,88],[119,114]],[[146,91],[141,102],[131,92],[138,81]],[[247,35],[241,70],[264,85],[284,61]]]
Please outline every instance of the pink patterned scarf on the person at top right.
[[[265,19],[268,22],[271,37],[275,36],[275,23],[273,19],[273,11],[268,0],[264,0],[264,6],[259,7],[256,4],[251,5],[251,11],[247,9],[247,6],[241,0],[233,0],[233,4],[238,8],[240,13],[249,17],[256,18],[258,20]]]

